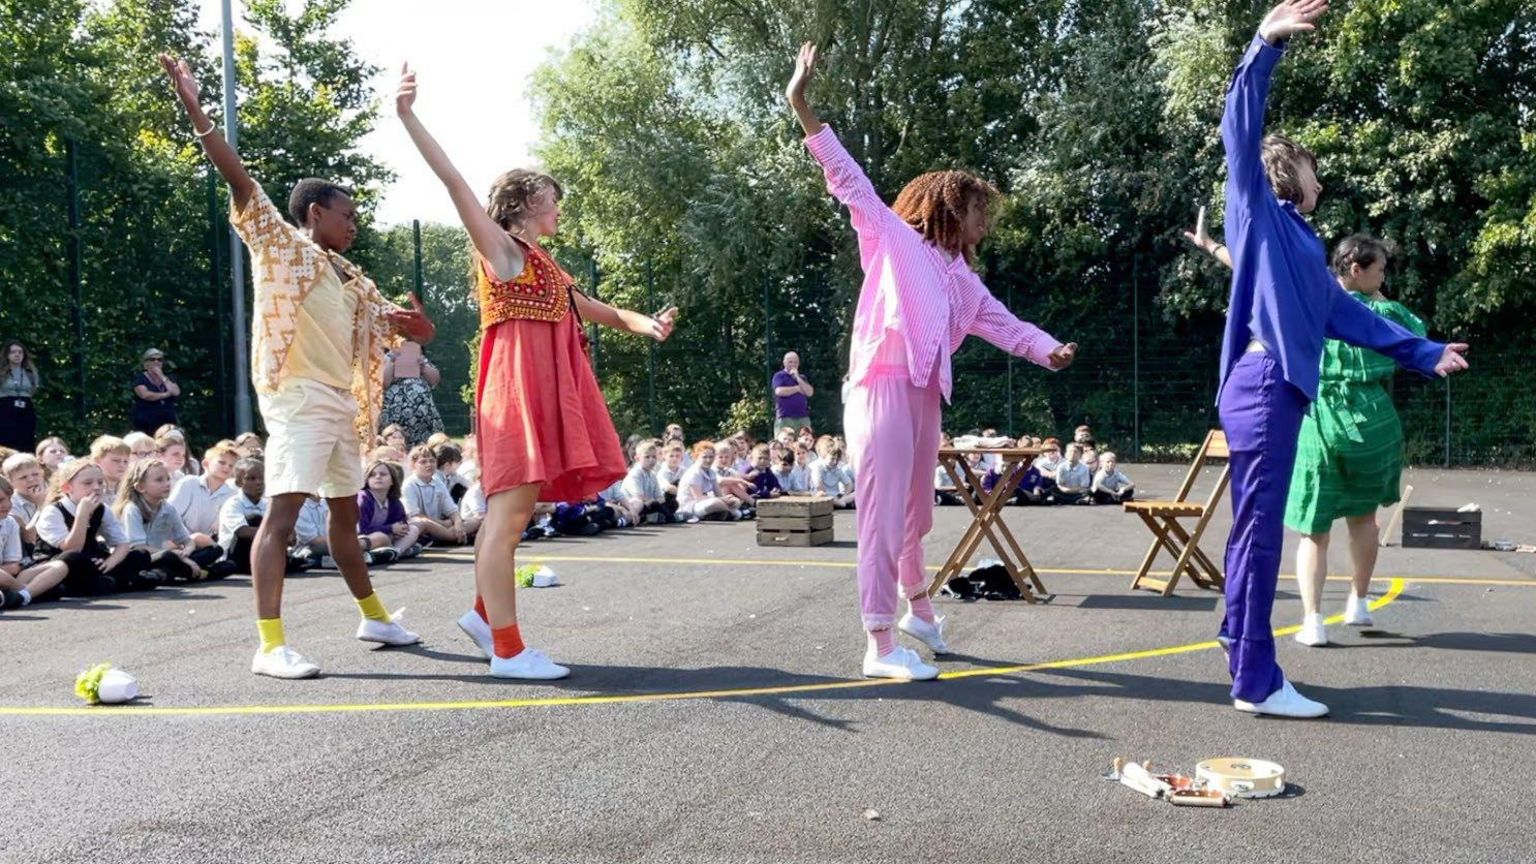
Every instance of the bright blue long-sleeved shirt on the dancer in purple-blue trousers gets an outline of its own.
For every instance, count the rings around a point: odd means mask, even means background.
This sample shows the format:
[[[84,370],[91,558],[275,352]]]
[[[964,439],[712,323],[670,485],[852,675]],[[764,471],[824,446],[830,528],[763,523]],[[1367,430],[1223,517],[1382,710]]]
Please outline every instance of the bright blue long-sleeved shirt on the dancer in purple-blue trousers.
[[[1232,252],[1221,383],[1226,384],[1249,343],[1258,340],[1279,363],[1286,380],[1315,400],[1326,337],[1433,375],[1445,346],[1413,335],[1350,297],[1329,272],[1322,241],[1312,226],[1270,188],[1261,158],[1264,106],[1275,65],[1284,54],[1255,35],[1232,74],[1221,117],[1221,143],[1227,151],[1224,231]]]

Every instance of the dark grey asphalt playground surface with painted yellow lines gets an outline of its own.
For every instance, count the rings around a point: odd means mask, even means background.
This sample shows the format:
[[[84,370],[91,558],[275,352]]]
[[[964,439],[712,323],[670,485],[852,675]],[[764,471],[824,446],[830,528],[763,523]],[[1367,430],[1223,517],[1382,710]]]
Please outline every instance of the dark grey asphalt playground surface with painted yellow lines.
[[[1180,475],[1132,469],[1152,495]],[[1536,541],[1536,475],[1407,483],[1416,504],[1479,503],[1488,538]],[[938,510],[931,564],[966,521]],[[0,861],[1536,858],[1536,555],[1384,549],[1376,630],[1281,638],[1287,675],[1333,709],[1286,721],[1230,707],[1218,595],[1127,590],[1138,520],[1008,523],[1054,596],[940,601],[958,675],[920,684],[857,678],[851,513],[817,549],[757,547],[751,524],[530,546],[565,583],[519,595],[530,644],[573,667],[547,684],[484,675],[453,626],[462,555],[376,575],[422,632],[413,649],[356,643],[338,577],[290,580],[313,681],[249,673],[244,580],[6,612]],[[1210,537],[1220,550],[1224,515]],[[1342,549],[1341,527],[1335,573]],[[1329,583],[1327,612],[1346,590]],[[1287,578],[1275,624],[1296,621]],[[75,710],[75,673],[103,660],[140,678],[140,704]],[[1264,758],[1292,787],[1175,809],[1100,779],[1117,755],[1186,772]]]

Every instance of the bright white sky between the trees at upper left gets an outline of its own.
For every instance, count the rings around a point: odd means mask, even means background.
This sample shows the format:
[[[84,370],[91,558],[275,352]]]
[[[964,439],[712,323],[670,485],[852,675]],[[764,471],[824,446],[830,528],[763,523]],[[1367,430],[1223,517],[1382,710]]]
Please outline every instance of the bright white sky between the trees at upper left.
[[[217,32],[220,0],[201,5],[204,29]],[[290,11],[300,6],[289,0]],[[233,14],[238,32],[240,0]],[[395,120],[402,61],[416,69],[416,115],[482,192],[502,171],[531,161],[539,131],[528,114],[528,77],[594,18],[596,0],[353,0],[333,34],[384,69],[373,81],[384,97],[379,125],[362,149],[398,175],[384,191],[379,223],[458,223],[442,184]]]

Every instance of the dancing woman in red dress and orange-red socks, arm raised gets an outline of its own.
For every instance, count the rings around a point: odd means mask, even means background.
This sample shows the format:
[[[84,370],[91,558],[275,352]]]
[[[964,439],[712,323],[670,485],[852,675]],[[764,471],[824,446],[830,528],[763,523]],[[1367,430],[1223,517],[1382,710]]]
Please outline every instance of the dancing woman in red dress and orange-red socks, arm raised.
[[[515,557],[536,503],[581,501],[628,472],[582,321],[664,341],[677,309],[650,317],[582,294],[539,246],[558,228],[561,184],[508,171],[482,206],[416,118],[415,101],[416,74],[406,68],[395,108],[470,234],[481,304],[475,410],[488,509],[475,547],[475,609],[459,627],[498,678],[564,678],[568,669],[522,644]]]

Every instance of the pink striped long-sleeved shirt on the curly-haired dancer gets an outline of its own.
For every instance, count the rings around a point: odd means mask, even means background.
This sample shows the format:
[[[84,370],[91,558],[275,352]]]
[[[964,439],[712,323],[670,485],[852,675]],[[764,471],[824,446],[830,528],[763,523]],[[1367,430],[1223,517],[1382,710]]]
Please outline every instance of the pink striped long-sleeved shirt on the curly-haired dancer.
[[[885,206],[831,126],[822,126],[805,146],[826,172],[826,191],[848,206],[859,235],[865,281],[848,360],[852,383],[863,383],[905,354],[912,384],[929,386],[937,367],[948,401],[949,355],[968,335],[1049,367],[1051,352],[1061,343],[1014,317],[982,284],[965,255],[951,258]]]

